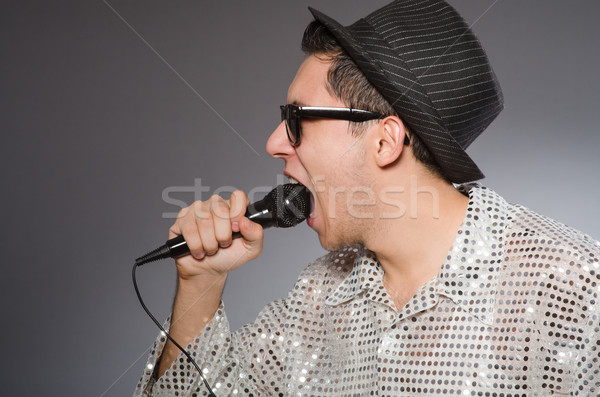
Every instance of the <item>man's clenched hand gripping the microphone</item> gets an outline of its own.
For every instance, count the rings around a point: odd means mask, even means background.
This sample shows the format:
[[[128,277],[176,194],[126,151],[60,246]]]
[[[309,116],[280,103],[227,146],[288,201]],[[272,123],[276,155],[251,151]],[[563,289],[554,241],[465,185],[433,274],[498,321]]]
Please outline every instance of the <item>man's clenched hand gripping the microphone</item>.
[[[220,277],[260,255],[263,229],[244,216],[248,203],[236,190],[229,200],[214,195],[179,212],[169,239],[183,235],[191,253],[175,260],[180,279]],[[238,231],[242,238],[232,239]]]

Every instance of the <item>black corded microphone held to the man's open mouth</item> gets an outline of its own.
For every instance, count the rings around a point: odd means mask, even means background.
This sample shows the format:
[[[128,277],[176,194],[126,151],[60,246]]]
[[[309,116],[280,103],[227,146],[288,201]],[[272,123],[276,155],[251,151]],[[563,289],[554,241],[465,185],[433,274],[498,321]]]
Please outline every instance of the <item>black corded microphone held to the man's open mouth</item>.
[[[249,204],[245,215],[264,229],[272,226],[296,226],[310,215],[310,191],[296,183],[278,185],[262,200]],[[239,238],[242,234],[234,232],[231,237]],[[135,263],[139,266],[159,259],[179,258],[189,253],[190,249],[183,236],[177,236],[154,251],[137,258]]]

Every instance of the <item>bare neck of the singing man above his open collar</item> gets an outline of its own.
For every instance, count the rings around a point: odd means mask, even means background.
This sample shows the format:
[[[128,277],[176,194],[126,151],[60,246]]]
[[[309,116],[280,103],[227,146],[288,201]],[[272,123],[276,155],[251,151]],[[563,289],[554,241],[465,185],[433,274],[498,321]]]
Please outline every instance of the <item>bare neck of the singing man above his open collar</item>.
[[[381,185],[378,197],[388,198],[380,203],[380,216],[364,245],[377,255],[386,284],[412,296],[438,274],[469,200],[451,184],[424,173],[396,180],[396,185],[401,186],[396,192],[389,188],[393,184]],[[402,203],[404,213],[398,205],[393,216],[394,207],[386,202]]]

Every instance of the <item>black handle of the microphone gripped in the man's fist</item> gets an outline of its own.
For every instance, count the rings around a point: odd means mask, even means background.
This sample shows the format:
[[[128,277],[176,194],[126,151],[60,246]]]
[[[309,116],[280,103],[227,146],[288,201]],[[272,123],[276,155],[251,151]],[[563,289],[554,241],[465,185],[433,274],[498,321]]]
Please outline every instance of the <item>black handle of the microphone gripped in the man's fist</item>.
[[[258,223],[266,229],[268,227],[274,226],[276,224],[275,214],[273,214],[266,206],[265,200],[259,200],[255,203],[248,204],[246,208],[246,213],[244,214],[248,219],[253,222]],[[231,238],[240,238],[242,234],[240,232],[231,233]],[[190,248],[187,246],[185,239],[183,236],[177,236],[155,249],[147,253],[144,256],[141,256],[135,260],[137,265],[143,265],[148,262],[157,261],[160,259],[166,258],[179,258],[180,256],[188,255],[190,253]]]

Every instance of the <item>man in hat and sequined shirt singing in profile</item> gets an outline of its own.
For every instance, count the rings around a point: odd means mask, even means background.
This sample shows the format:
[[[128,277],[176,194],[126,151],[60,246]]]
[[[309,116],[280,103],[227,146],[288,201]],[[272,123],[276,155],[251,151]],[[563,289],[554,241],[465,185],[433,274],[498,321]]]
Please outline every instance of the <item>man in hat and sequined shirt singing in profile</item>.
[[[219,396],[598,395],[598,242],[454,185],[483,177],[464,149],[502,108],[464,21],[440,0],[346,28],[311,11],[267,152],[311,191],[307,222],[332,252],[231,333],[223,285],[262,229],[243,192],[194,203],[170,229],[192,252],[176,260],[170,334]],[[136,395],[206,395],[165,342]]]

